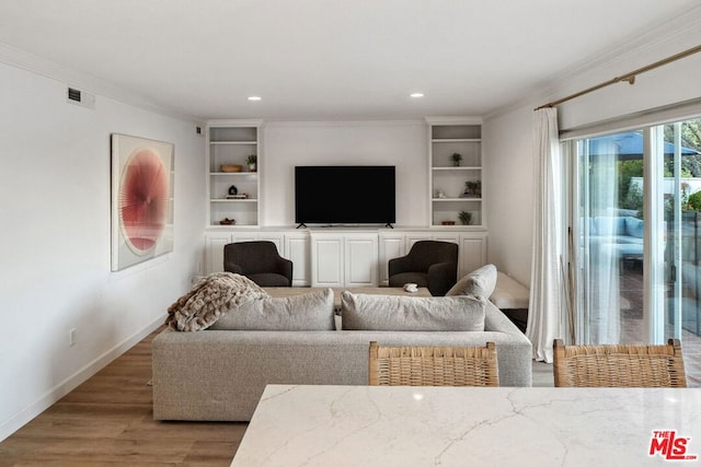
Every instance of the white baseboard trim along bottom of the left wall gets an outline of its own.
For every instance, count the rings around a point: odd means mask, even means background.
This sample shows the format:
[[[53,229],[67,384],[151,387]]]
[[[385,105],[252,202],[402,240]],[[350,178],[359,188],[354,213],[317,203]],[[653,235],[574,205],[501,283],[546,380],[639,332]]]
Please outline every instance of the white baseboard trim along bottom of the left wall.
[[[44,410],[51,407],[56,404],[61,397],[66,396],[68,393],[80,386],[82,383],[88,381],[91,376],[97,373],[100,370],[107,366],[115,359],[124,354],[127,350],[136,346],[138,342],[143,340],[149,334],[153,332],[159,328],[165,320],[165,316],[160,316],[154,319],[152,323],[147,325],[143,329],[136,332],[131,337],[123,340],[122,342],[114,346],[112,349],[104,352],[102,355],[94,359],[92,362],[88,363],[82,369],[78,370],[71,376],[67,377],[54,388],[49,389],[44,396],[42,396],[37,401],[28,405],[24,409],[20,410],[8,420],[3,421],[0,424],[0,442],[10,436],[12,433],[24,427],[26,423],[32,421],[36,416],[42,413]]]

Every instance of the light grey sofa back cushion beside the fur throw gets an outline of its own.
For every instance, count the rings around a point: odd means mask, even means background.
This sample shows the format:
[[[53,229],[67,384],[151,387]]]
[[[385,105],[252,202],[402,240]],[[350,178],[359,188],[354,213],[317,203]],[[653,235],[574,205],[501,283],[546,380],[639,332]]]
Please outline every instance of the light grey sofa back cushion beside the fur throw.
[[[250,300],[220,316],[209,329],[334,330],[333,291]]]

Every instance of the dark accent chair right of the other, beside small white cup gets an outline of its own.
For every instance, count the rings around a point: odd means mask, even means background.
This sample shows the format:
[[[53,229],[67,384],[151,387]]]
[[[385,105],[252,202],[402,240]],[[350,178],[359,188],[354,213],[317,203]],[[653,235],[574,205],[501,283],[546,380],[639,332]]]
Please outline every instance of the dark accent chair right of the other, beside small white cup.
[[[444,296],[458,281],[458,245],[425,240],[416,242],[409,255],[389,261],[390,287],[413,282],[426,287],[434,296]]]

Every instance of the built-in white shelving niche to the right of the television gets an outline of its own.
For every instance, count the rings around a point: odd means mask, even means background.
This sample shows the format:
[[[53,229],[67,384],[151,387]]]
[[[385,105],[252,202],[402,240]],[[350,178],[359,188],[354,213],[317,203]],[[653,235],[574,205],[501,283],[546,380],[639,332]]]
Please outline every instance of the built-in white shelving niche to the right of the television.
[[[427,119],[429,130],[430,224],[445,226],[459,219],[461,211],[471,214],[467,226],[483,227],[482,124],[476,119]],[[460,154],[455,165],[452,154]],[[479,184],[468,188],[467,183]]]

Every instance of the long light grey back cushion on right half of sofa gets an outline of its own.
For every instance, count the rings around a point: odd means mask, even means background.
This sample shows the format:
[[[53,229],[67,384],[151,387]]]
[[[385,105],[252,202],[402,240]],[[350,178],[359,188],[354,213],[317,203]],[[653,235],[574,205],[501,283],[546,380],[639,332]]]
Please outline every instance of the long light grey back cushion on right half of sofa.
[[[484,330],[485,301],[474,296],[369,295],[343,292],[344,330]]]

